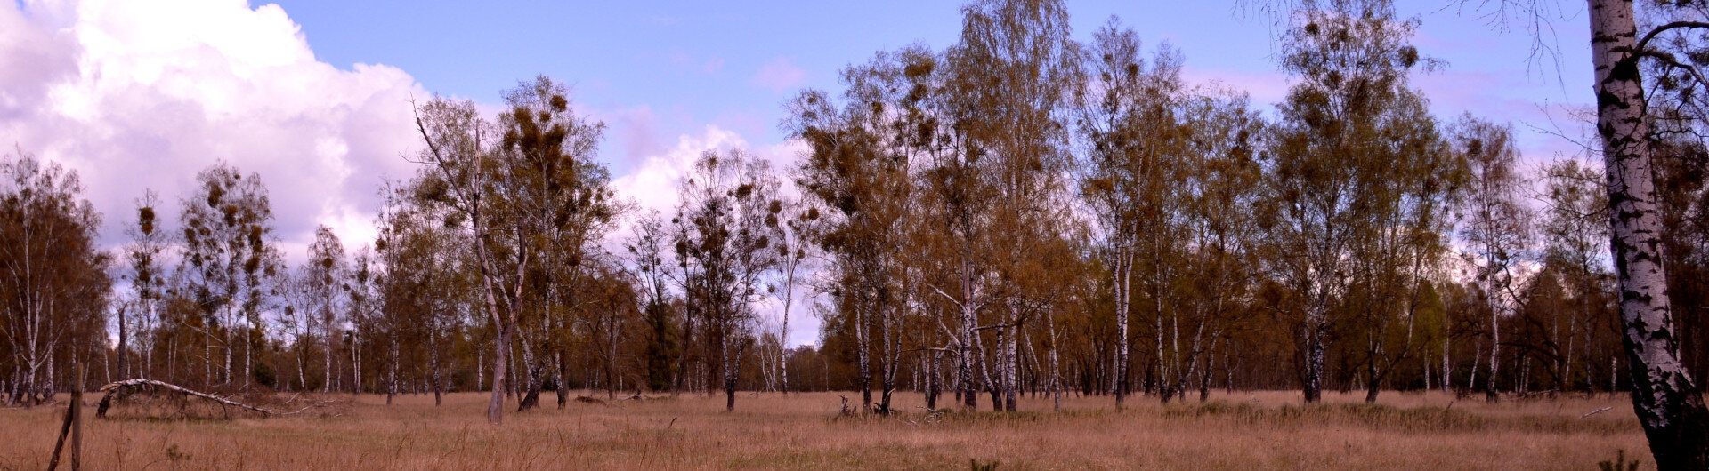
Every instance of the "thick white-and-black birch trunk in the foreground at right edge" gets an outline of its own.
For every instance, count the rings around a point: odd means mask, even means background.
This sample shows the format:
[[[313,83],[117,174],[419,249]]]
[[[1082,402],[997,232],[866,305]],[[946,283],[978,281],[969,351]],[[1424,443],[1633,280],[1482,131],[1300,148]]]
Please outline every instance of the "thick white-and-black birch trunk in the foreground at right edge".
[[[1658,469],[1709,469],[1709,410],[1678,358],[1668,275],[1661,265],[1661,215],[1644,123],[1630,0],[1591,0],[1591,61],[1596,68],[1596,130],[1608,174],[1608,244],[1620,290],[1620,324],[1632,408]]]

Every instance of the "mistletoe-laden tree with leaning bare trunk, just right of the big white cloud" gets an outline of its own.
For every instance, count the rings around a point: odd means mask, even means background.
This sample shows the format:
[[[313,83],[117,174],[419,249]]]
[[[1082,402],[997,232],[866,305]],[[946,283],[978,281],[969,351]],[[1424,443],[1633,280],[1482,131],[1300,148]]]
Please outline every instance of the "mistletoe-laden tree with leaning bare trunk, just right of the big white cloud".
[[[475,246],[496,329],[490,423],[502,422],[506,369],[521,321],[533,324],[547,309],[566,305],[530,283],[530,273],[547,273],[535,265],[574,266],[584,244],[598,241],[619,213],[605,167],[591,160],[603,125],[574,116],[567,89],[542,75],[506,92],[506,102],[497,125],[482,119],[473,102],[446,99],[419,108],[415,121],[427,147],[417,162],[432,169],[424,174],[424,195],[448,206],[453,225],[468,230]],[[545,305],[538,305],[542,297]],[[521,338],[523,363],[537,401],[540,369],[530,341]],[[523,399],[521,406],[530,404]]]

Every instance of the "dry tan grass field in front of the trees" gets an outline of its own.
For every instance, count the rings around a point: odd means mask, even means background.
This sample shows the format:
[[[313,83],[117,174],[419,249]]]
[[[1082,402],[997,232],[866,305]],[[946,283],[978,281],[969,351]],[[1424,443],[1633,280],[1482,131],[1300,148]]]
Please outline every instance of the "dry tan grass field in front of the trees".
[[[839,396],[571,401],[484,420],[485,394],[381,396],[321,413],[232,420],[94,420],[91,469],[1596,469],[1617,449],[1651,469],[1625,396],[1485,404],[1441,392],[1213,394],[1160,406],[1135,398],[1024,399],[1019,413],[926,415],[901,394],[897,416],[839,418]],[[65,396],[62,396],[63,401]],[[350,401],[350,396],[328,396]],[[981,398],[984,403],[986,398]],[[94,403],[92,398],[89,401]],[[1605,413],[1584,413],[1612,406]],[[43,469],[63,406],[0,410],[0,469]],[[62,464],[63,466],[63,464]]]

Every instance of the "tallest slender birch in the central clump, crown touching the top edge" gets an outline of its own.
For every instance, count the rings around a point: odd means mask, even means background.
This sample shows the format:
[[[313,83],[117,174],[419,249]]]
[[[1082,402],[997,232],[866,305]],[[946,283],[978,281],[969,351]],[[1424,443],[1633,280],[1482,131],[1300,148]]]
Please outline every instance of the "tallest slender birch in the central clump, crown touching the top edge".
[[[960,41],[945,53],[947,106],[955,130],[974,159],[984,157],[993,191],[988,232],[1003,317],[993,324],[998,367],[993,401],[1015,410],[1024,304],[1036,302],[1022,287],[1031,249],[1051,242],[1048,224],[1061,212],[1068,167],[1065,123],[1070,87],[1078,80],[1078,44],[1070,39],[1061,2],[978,2],[962,10]],[[1001,398],[998,398],[1001,389]]]

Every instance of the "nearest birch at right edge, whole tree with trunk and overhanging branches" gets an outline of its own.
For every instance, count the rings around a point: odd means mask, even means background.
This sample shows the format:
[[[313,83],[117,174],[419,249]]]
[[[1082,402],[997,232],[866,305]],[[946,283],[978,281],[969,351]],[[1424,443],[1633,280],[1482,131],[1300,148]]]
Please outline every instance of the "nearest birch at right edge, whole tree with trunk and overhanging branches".
[[[1389,0],[1333,0],[1331,3],[1381,3]],[[1700,109],[1697,87],[1709,85],[1694,60],[1702,29],[1709,22],[1704,7],[1694,2],[1644,3],[1649,10],[1646,31],[1639,34],[1639,17],[1630,0],[1589,0],[1591,68],[1594,70],[1596,131],[1608,179],[1610,253],[1620,305],[1620,324],[1632,404],[1649,437],[1651,454],[1661,469],[1709,468],[1709,408],[1704,406],[1690,372],[1680,362],[1673,304],[1668,294],[1668,268],[1661,249],[1661,203],[1656,198],[1656,159],[1653,148],[1649,101],[1644,70],[1653,72],[1663,96],[1687,97]],[[1318,5],[1306,2],[1265,2],[1263,9],[1290,14]],[[1530,32],[1543,44],[1542,27],[1548,24],[1547,2],[1504,0],[1494,3],[1506,20],[1509,10],[1521,15]],[[1697,34],[1690,34],[1697,32]],[[1680,60],[1680,58],[1690,60]],[[1700,113],[1694,119],[1700,119]]]

